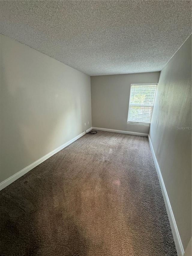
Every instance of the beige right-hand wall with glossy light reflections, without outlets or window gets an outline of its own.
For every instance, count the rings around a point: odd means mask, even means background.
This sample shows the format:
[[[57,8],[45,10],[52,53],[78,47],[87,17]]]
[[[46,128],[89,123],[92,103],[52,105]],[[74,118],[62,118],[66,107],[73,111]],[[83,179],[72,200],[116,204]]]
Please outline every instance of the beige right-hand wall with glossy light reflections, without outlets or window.
[[[161,71],[150,138],[184,249],[191,238],[191,36]]]

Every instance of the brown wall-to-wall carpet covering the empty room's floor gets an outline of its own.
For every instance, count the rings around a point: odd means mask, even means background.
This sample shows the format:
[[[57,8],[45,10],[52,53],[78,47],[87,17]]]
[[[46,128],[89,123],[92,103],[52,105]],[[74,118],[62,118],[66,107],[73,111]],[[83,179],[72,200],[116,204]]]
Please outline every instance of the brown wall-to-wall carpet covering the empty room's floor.
[[[147,137],[87,134],[0,195],[0,255],[177,255]]]

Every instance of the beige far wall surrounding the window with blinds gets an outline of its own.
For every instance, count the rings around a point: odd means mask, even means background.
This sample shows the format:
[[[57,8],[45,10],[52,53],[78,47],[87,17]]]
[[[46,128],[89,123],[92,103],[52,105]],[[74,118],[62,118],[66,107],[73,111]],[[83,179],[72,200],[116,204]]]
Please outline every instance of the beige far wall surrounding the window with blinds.
[[[91,77],[93,127],[149,133],[149,126],[127,124],[131,84],[158,83],[160,72]]]

